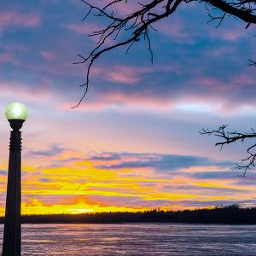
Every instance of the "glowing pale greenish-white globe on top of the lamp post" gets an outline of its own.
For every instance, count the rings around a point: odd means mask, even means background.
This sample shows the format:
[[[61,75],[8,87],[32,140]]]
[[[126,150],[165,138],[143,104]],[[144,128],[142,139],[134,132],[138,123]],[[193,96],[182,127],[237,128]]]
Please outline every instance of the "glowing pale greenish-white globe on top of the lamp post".
[[[5,108],[5,116],[8,120],[19,119],[26,120],[26,105],[20,102],[12,102]]]

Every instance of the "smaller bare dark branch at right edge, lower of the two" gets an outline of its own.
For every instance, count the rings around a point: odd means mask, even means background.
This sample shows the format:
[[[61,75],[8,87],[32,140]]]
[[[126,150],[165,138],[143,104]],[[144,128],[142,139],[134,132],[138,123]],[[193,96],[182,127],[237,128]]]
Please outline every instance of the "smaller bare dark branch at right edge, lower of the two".
[[[256,131],[253,128],[251,128],[251,132],[227,131],[228,126],[229,125],[221,125],[217,130],[202,129],[199,133],[201,135],[213,135],[222,139],[222,141],[215,144],[215,146],[219,146],[221,149],[224,145],[237,142],[243,143],[247,138],[256,137]],[[247,170],[256,166],[256,152],[253,152],[255,148],[256,143],[251,144],[247,148],[247,157],[241,159],[241,162],[245,164],[236,163],[238,169],[244,170],[243,174],[240,175],[241,177],[246,177]]]

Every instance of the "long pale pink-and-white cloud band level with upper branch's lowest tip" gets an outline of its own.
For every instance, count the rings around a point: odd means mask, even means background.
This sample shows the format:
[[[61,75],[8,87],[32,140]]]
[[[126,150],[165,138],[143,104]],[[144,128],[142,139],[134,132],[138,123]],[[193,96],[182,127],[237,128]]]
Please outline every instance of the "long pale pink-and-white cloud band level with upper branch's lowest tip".
[[[60,110],[68,109],[76,105],[77,102],[61,102],[57,108]],[[232,115],[237,113],[247,113],[247,108],[256,108],[256,105],[251,102],[245,105],[234,104],[230,98],[225,98],[216,94],[212,95],[183,95],[183,98],[177,96],[175,98],[170,94],[170,97],[161,98],[150,93],[144,96],[141,93],[125,93],[125,92],[104,92],[98,94],[95,100],[90,101],[87,98],[76,108],[77,112],[102,112],[102,111],[118,111],[121,113],[131,112],[150,112],[155,114],[166,113],[178,110],[183,112],[200,112],[214,113],[220,115]],[[254,111],[253,111],[254,112]]]

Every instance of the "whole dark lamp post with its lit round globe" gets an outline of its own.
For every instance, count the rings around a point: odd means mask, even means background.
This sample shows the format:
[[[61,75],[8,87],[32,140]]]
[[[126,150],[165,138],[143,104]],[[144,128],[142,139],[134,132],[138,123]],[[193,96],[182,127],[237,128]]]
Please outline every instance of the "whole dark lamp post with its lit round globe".
[[[21,166],[21,131],[27,118],[27,108],[23,103],[10,103],[5,109],[5,116],[13,129],[10,132],[9,171],[3,230],[3,256],[20,256],[20,166]]]

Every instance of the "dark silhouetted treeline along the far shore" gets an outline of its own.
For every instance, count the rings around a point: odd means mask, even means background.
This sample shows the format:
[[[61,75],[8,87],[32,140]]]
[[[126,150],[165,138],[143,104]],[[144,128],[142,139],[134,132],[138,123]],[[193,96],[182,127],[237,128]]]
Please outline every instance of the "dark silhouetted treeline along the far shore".
[[[22,223],[30,224],[111,224],[111,223],[197,223],[256,224],[256,207],[237,205],[184,211],[151,210],[145,212],[94,212],[82,214],[26,215]],[[0,218],[3,223],[4,218]]]

